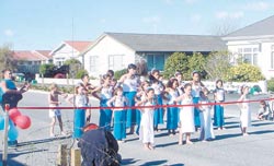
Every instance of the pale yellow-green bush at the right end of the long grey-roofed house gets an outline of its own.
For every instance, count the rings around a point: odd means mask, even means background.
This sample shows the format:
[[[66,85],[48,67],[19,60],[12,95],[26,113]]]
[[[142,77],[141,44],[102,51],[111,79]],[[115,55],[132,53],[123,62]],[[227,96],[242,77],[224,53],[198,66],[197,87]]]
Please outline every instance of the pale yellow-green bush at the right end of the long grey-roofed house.
[[[210,52],[204,66],[209,80],[221,79],[228,81],[230,79],[230,54],[226,50]]]

